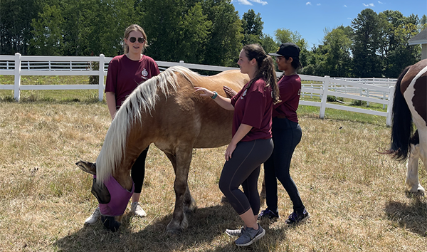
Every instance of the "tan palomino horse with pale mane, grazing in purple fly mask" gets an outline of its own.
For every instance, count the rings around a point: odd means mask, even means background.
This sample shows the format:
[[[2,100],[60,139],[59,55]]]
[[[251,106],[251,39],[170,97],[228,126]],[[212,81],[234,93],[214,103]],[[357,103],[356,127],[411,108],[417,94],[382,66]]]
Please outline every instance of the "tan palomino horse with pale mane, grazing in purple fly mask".
[[[195,207],[187,184],[193,148],[227,145],[233,120],[233,111],[224,110],[211,98],[202,98],[194,87],[225,96],[223,85],[240,90],[248,81],[248,75],[239,70],[203,77],[175,66],[132,92],[112,120],[96,164],[76,163],[83,171],[96,175],[92,191],[100,202],[107,229],[115,231],[120,226],[132,195],[130,169],[152,142],[167,155],[175,172],[175,209],[167,231],[181,231],[188,226],[184,211]]]

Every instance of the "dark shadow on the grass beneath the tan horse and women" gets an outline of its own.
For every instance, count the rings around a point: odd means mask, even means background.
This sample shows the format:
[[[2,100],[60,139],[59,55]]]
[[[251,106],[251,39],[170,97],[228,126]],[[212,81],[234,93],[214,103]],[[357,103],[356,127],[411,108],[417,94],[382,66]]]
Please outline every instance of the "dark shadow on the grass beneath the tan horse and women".
[[[178,234],[166,231],[172,214],[154,217],[147,226],[132,226],[135,218],[125,214],[119,231],[103,229],[100,221],[94,226],[83,226],[75,233],[58,239],[53,246],[58,251],[270,251],[285,239],[284,229],[268,229],[265,236],[246,248],[238,248],[226,229],[238,229],[242,222],[229,204],[196,209],[187,214],[189,227]],[[147,217],[149,218],[149,217]],[[273,249],[274,250],[274,249]]]

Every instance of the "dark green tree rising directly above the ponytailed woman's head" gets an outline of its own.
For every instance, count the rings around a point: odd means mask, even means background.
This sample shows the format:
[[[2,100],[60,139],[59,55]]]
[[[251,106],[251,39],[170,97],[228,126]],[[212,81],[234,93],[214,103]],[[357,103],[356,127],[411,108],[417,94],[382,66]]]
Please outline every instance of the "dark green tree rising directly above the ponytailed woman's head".
[[[260,43],[263,36],[263,25],[264,22],[261,20],[260,14],[255,14],[253,9],[242,16],[242,28],[243,28],[243,45],[251,43]]]

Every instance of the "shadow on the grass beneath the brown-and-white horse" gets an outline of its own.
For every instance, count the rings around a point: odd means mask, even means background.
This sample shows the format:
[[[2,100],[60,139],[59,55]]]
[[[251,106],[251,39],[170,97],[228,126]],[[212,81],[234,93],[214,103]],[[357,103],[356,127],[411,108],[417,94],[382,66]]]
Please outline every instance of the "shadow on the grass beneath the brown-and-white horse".
[[[427,237],[427,202],[419,195],[408,194],[414,201],[405,204],[398,201],[386,203],[387,218],[396,224],[395,227],[407,229],[420,236]]]

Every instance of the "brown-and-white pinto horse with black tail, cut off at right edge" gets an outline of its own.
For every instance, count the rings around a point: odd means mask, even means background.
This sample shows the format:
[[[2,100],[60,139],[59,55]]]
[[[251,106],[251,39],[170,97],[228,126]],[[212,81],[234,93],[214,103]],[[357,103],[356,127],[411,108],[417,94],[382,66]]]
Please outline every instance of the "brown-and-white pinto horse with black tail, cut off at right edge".
[[[393,104],[391,147],[396,159],[408,157],[406,185],[409,191],[425,194],[418,179],[418,158],[427,169],[427,59],[410,65],[399,76]],[[413,134],[413,123],[416,132]]]

